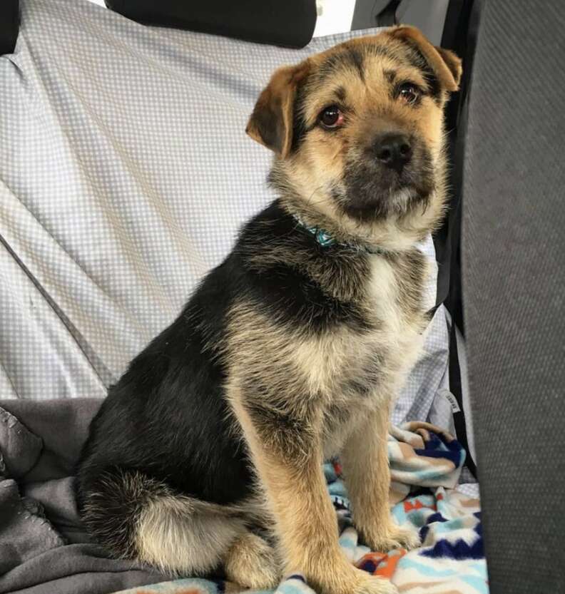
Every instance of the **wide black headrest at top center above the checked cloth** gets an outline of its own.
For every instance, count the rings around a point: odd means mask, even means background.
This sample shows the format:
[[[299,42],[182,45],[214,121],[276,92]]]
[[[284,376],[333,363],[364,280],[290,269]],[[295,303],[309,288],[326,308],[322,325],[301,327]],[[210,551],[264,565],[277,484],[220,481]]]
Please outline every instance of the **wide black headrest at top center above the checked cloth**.
[[[147,25],[294,48],[310,42],[316,24],[315,0],[106,0],[106,6]]]

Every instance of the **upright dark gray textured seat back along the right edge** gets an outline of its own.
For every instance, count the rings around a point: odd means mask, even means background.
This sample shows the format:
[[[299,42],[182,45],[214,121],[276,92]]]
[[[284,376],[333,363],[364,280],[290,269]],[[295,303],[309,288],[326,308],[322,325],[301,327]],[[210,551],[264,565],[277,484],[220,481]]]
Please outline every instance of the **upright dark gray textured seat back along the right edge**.
[[[464,317],[492,594],[565,592],[565,3],[487,1],[465,149]]]

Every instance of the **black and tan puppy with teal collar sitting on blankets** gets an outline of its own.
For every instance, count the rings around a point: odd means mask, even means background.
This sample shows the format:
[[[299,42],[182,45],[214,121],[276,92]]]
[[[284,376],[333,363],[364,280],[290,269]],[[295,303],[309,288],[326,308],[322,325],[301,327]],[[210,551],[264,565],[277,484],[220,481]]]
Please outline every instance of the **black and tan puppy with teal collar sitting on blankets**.
[[[113,555],[248,588],[300,572],[322,594],[396,591],[340,551],[322,461],[340,456],[367,546],[417,546],[390,516],[387,432],[429,321],[416,244],[444,214],[461,75],[411,26],[275,71],[246,131],[274,153],[278,199],[91,424],[78,508]]]

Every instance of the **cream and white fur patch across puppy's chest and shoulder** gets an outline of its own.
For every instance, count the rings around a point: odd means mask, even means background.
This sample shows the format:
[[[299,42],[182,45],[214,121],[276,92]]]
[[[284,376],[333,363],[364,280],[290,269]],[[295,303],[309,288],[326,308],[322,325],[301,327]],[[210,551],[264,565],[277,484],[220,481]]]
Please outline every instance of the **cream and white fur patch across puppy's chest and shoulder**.
[[[422,312],[408,307],[394,264],[371,256],[370,274],[360,282],[363,330],[344,324],[312,335],[252,304],[242,302],[232,312],[230,367],[245,370],[245,377],[230,374],[228,392],[253,383],[263,409],[313,416],[326,455],[339,451],[369,410],[390,404],[422,344]]]

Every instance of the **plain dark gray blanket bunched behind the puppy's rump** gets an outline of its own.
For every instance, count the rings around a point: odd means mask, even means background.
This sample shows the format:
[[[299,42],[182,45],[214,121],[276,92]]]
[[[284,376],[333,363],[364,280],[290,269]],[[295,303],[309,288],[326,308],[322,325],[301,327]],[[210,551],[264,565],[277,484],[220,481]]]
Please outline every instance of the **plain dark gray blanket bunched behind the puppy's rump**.
[[[109,559],[78,520],[73,467],[100,404],[0,402],[0,593],[108,594],[170,577]]]

